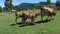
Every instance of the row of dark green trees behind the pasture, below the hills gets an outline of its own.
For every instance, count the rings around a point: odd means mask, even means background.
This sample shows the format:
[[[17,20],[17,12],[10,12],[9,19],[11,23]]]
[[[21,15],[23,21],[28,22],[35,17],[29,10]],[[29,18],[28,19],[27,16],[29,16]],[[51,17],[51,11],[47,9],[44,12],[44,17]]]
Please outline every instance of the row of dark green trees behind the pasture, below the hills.
[[[28,9],[28,8],[26,8],[24,5],[21,6],[21,7],[14,6],[14,5],[12,4],[12,2],[13,2],[13,0],[5,0],[5,1],[4,1],[5,7],[2,8],[2,7],[0,6],[0,12],[8,12],[8,11],[9,11],[9,13],[11,13],[11,9],[15,9],[15,10],[17,10],[17,11],[29,10],[29,9],[40,9],[40,8],[39,8],[40,6],[36,6],[35,4],[31,4],[31,7]],[[52,5],[51,5],[51,0],[47,0],[47,4],[48,4],[47,6],[49,6],[49,7],[56,7],[57,10],[60,9],[60,0],[57,0],[57,1],[56,1],[55,6],[52,6]]]

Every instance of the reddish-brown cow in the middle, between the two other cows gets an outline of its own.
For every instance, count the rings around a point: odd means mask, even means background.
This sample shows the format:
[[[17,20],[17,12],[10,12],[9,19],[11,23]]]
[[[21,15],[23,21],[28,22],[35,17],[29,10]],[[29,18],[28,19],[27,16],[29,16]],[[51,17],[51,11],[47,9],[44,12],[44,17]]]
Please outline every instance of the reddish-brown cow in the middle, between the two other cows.
[[[31,23],[34,24],[34,19],[40,15],[40,12],[39,13],[32,13],[32,12],[24,12],[24,22],[26,22],[27,18],[31,19]]]

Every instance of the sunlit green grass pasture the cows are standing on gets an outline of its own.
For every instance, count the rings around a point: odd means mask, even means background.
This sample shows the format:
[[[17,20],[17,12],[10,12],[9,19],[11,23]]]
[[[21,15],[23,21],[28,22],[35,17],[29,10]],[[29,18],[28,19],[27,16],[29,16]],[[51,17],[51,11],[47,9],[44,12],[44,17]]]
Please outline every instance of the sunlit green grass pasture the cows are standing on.
[[[21,26],[15,24],[15,14],[0,13],[0,34],[60,34],[60,12],[57,12],[54,20],[40,23],[40,16],[35,19],[35,25]],[[18,19],[21,22],[21,18]],[[29,24],[30,19],[27,20]]]

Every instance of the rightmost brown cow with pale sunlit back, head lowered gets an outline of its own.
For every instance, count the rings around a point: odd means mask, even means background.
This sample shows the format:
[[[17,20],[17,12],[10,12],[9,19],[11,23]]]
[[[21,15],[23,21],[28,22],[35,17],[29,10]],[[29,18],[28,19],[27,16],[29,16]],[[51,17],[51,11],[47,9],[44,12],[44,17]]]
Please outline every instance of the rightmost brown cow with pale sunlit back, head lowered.
[[[51,18],[52,16],[56,15],[56,11],[53,8],[49,8],[49,7],[46,7],[46,6],[41,6],[41,11],[42,11],[42,17],[43,17],[43,15],[48,16],[46,18],[46,20],[49,18],[49,16]]]

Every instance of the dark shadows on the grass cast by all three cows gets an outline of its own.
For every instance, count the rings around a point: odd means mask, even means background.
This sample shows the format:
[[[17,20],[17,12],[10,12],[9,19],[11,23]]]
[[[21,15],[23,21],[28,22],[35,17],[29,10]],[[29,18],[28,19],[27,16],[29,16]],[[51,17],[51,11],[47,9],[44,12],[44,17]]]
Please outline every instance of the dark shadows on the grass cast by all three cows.
[[[43,20],[42,22],[41,21],[37,21],[37,22],[34,22],[34,23],[31,23],[31,22],[26,22],[26,24],[23,24],[22,22],[19,22],[17,23],[17,25],[20,25],[19,27],[24,27],[24,26],[33,26],[35,24],[39,24],[39,23],[47,23],[49,21],[51,21],[53,19],[49,19],[49,20]],[[14,26],[15,24],[11,24],[10,26]]]

